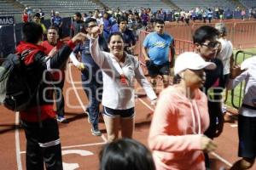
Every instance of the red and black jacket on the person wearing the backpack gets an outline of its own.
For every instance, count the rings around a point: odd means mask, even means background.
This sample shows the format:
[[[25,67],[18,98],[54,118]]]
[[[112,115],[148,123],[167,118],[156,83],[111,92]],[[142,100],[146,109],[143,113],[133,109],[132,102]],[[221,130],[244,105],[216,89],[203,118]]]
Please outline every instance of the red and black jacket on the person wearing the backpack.
[[[22,54],[25,56],[24,63],[26,65],[26,72],[28,79],[28,84],[32,89],[38,88],[38,84],[42,81],[42,75],[44,71],[47,70],[49,62],[50,68],[61,68],[67,62],[69,54],[75,44],[72,41],[67,42],[60,49],[58,54],[55,54],[51,59],[44,53],[46,48],[32,44],[29,42],[20,42],[16,48],[17,54]],[[53,94],[45,93],[44,89],[49,87],[49,84],[43,82],[38,88],[39,94],[39,109],[41,111],[41,120],[47,118],[55,118],[55,111],[53,109],[53,103],[46,99],[52,99]],[[48,90],[49,91],[49,90]],[[49,91],[50,92],[50,91]],[[32,102],[26,111],[20,111],[20,117],[22,120],[27,122],[38,122],[38,103],[36,94],[33,95]]]

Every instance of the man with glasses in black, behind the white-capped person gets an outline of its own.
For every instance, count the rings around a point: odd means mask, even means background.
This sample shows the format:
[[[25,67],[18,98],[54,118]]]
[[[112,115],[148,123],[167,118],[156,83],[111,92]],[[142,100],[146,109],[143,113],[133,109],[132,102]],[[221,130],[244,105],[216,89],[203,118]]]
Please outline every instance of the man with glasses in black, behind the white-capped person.
[[[224,116],[221,110],[221,93],[224,89],[223,64],[220,59],[216,58],[220,49],[218,33],[218,30],[212,26],[201,26],[193,35],[196,53],[200,54],[206,61],[211,61],[217,65],[215,70],[206,71],[206,82],[202,89],[207,94],[210,116],[210,126],[205,135],[211,139],[218,137],[224,126]],[[206,166],[209,167],[207,154]]]

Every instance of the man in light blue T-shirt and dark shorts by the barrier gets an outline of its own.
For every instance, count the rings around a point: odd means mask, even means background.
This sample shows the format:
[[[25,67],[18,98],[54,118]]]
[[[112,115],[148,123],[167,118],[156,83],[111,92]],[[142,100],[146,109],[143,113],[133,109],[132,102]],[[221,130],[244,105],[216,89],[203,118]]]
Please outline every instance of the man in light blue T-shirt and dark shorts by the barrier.
[[[171,50],[171,63],[169,59]],[[143,56],[148,68],[150,82],[156,91],[157,76],[163,78],[164,87],[169,86],[170,67],[174,65],[174,39],[165,33],[165,22],[155,20],[154,32],[147,35],[143,42]]]

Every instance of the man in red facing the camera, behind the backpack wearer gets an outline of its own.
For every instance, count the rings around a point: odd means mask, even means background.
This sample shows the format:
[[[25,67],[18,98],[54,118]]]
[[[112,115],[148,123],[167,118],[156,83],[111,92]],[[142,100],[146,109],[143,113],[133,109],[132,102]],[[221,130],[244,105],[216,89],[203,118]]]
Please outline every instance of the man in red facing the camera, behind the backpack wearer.
[[[49,54],[49,52],[55,48],[58,51],[64,42],[59,40],[58,28],[55,26],[49,26],[47,31],[47,40],[42,42],[41,45],[45,48],[44,53]],[[65,100],[62,94],[64,82],[65,82],[65,69],[66,64],[62,65],[59,71],[51,71],[50,80],[53,81],[55,85],[55,100],[56,100],[56,114],[58,122],[67,122],[65,118]]]

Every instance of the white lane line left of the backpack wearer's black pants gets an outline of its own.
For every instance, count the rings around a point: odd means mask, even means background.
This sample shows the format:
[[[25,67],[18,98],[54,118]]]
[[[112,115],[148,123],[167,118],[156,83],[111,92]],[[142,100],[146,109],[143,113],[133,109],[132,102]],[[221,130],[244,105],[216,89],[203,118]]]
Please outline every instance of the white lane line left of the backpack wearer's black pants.
[[[22,170],[21,156],[20,156],[20,133],[19,133],[19,124],[20,124],[20,113],[15,112],[15,148],[16,148],[16,161],[18,170]]]

